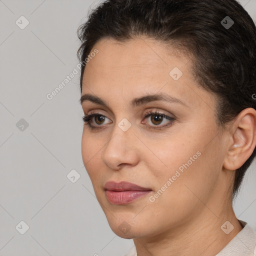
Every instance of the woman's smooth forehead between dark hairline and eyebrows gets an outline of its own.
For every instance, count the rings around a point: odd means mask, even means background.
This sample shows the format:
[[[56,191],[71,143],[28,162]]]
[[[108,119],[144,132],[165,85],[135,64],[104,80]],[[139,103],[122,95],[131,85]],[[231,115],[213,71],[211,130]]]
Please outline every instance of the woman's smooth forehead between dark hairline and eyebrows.
[[[94,48],[98,53],[86,65],[82,94],[92,90],[98,96],[108,95],[109,98],[111,91],[111,94],[122,93],[125,99],[131,99],[160,91],[182,98],[190,107],[201,101],[200,96],[204,97],[194,91],[194,87],[199,86],[187,56],[177,56],[171,51],[166,54],[161,43],[146,38],[122,43],[107,39],[99,41]]]

